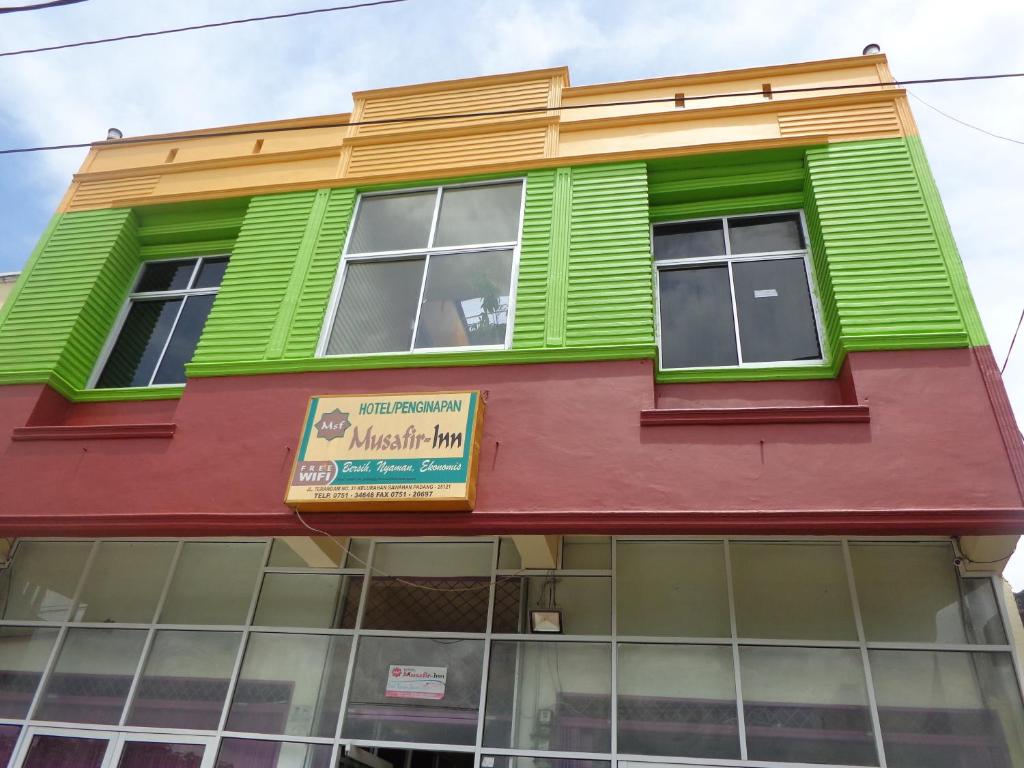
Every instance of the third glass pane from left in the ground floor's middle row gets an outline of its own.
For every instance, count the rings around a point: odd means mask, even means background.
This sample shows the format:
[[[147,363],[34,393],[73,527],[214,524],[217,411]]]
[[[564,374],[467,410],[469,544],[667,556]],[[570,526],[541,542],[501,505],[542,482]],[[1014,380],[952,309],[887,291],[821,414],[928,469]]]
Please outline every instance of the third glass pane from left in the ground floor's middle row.
[[[241,640],[238,632],[160,630],[128,725],[215,729]]]

